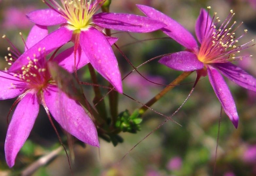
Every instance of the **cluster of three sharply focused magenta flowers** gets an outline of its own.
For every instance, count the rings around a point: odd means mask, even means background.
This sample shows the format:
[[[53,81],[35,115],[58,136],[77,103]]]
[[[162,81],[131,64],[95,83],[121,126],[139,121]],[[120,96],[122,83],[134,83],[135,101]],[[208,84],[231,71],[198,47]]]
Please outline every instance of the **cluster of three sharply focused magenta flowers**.
[[[20,53],[9,48],[6,60],[10,68],[0,72],[0,99],[18,96],[18,103],[9,124],[5,141],[6,160],[9,167],[15,163],[17,153],[24,145],[42,104],[47,113],[63,129],[79,140],[99,147],[94,121],[74,99],[66,95],[52,80],[47,56],[68,42],[73,46],[52,58],[61,67],[72,73],[90,63],[119,92],[123,92],[118,62],[111,48],[118,39],[109,37],[104,29],[146,33],[161,29],[166,35],[187,49],[160,59],[160,63],[179,71],[196,71],[198,78],[209,76],[213,90],[224,111],[237,128],[238,114],[230,90],[221,74],[239,86],[256,91],[256,79],[232,64],[240,59],[236,56],[249,47],[250,42],[237,45],[241,37],[235,38],[235,22],[232,10],[227,19],[219,23],[209,10],[201,9],[196,21],[196,39],[178,22],[160,11],[143,5],[137,7],[147,17],[125,13],[97,11],[105,0],[55,0],[43,1],[48,8],[27,14],[34,23]],[[48,26],[58,29],[48,34]],[[245,30],[245,33],[247,30]],[[6,38],[6,36],[4,36]],[[65,117],[65,118],[64,118]],[[181,160],[170,161],[170,169],[181,167]]]

